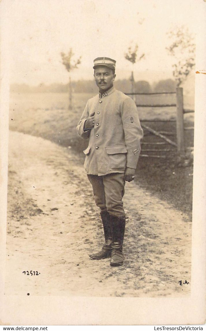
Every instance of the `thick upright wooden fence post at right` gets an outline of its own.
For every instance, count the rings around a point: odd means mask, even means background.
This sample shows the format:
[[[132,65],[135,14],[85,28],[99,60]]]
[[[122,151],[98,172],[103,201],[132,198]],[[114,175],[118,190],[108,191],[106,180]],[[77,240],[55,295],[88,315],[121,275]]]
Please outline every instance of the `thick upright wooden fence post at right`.
[[[176,101],[177,101],[177,156],[178,161],[182,161],[185,158],[185,139],[184,139],[184,105],[183,105],[183,88],[177,87],[176,89]]]

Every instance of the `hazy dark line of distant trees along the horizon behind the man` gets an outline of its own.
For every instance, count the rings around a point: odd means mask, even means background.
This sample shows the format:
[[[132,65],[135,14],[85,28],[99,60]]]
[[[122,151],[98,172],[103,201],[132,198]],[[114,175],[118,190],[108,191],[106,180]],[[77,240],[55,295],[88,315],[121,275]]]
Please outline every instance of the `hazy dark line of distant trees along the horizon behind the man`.
[[[93,93],[97,92],[97,86],[94,80],[77,80],[71,83],[74,93]],[[115,80],[115,88],[124,92],[131,92],[131,81],[128,79]],[[151,93],[151,92],[175,92],[176,82],[173,79],[164,79],[154,82],[152,85],[146,80],[139,80],[135,82],[136,93]],[[53,83],[46,85],[41,83],[37,86],[30,86],[27,84],[11,84],[10,91],[15,93],[67,93],[68,84]]]

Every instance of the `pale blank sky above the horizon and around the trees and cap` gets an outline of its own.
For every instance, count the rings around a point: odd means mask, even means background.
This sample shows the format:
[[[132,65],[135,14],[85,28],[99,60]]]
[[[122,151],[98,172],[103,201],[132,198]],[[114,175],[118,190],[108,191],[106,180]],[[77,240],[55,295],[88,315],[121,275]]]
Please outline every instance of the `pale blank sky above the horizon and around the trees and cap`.
[[[184,24],[195,33],[200,2],[7,0],[11,82],[67,83],[60,53],[71,47],[76,57],[82,56],[73,79],[92,79],[93,60],[99,56],[115,59],[117,78],[128,78],[131,64],[124,53],[132,41],[138,43],[140,54],[145,53],[145,60],[134,67],[136,79],[172,76],[174,60],[165,50],[166,32]]]

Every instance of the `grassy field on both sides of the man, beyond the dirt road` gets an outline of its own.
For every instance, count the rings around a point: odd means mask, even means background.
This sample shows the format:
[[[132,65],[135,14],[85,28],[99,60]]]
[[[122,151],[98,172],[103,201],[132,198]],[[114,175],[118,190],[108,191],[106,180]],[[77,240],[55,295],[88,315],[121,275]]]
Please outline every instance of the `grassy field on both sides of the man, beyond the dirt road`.
[[[68,111],[68,95],[65,93],[13,93],[10,98],[10,129],[40,136],[57,144],[68,146],[75,152],[87,147],[88,141],[77,137],[76,125],[84,110],[86,101],[93,95],[74,94],[73,110]],[[159,104],[175,103],[174,95],[138,96],[137,103]],[[193,109],[193,100],[185,98],[185,108]],[[175,107],[138,109],[140,119],[175,119]],[[155,130],[173,132],[168,136],[176,141],[174,122],[146,122]],[[193,126],[193,114],[185,116],[187,126]],[[154,136],[144,131],[143,142],[153,142]],[[157,138],[158,139],[158,138]],[[155,140],[156,141],[156,140]],[[159,140],[160,141],[160,140]],[[185,132],[186,147],[193,146],[193,131]],[[145,149],[146,145],[142,145]],[[167,146],[169,148],[169,146]],[[172,146],[171,146],[172,147]],[[145,154],[142,151],[142,154]],[[162,152],[160,152],[160,155]],[[161,199],[172,203],[179,210],[191,216],[192,210],[192,162],[180,166],[176,162],[175,151],[167,152],[165,159],[140,157],[137,168],[137,181]]]

